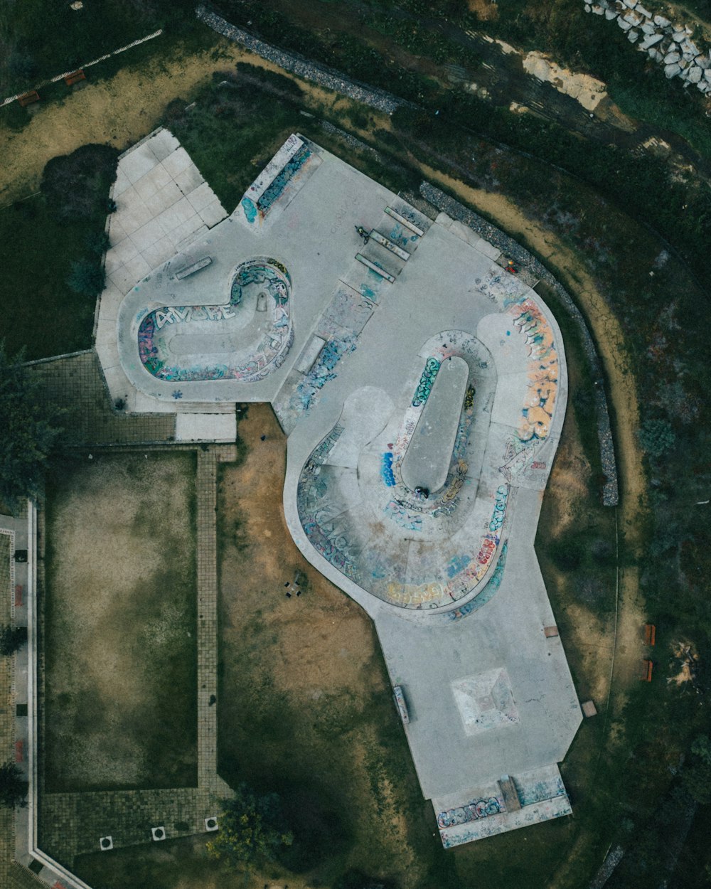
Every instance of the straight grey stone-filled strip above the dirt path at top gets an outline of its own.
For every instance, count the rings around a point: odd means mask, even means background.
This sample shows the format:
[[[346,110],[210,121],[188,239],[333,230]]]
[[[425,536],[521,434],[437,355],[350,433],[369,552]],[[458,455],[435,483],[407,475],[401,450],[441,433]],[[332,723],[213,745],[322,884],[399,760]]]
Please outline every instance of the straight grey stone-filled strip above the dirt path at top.
[[[329,90],[340,92],[344,96],[348,96],[349,99],[362,102],[363,105],[369,105],[371,108],[392,114],[395,108],[411,104],[403,99],[398,99],[389,92],[378,90],[365,84],[358,84],[343,76],[340,71],[326,68],[324,65],[318,65],[294,52],[284,52],[284,50],[276,49],[275,46],[252,36],[248,31],[244,31],[243,28],[236,28],[235,25],[230,25],[228,21],[222,19],[214,12],[210,12],[204,6],[197,7],[196,15],[199,20],[204,21],[213,31],[226,36],[228,40],[234,40],[236,43],[242,44],[250,52],[260,55],[262,59],[273,61],[280,68],[284,68],[285,71],[291,71],[292,74],[311,80],[315,84],[319,84],[319,86],[325,86]]]

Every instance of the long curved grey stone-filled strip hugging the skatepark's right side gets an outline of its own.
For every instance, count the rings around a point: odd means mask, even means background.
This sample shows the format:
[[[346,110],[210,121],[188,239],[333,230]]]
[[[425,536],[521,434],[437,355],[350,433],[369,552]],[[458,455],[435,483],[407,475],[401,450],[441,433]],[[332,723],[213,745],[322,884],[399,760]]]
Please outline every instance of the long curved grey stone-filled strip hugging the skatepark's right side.
[[[532,287],[539,281],[543,281],[551,287],[575,324],[577,324],[583,348],[585,349],[590,369],[593,372],[593,379],[595,380],[597,437],[600,442],[600,460],[606,479],[603,485],[603,504],[604,506],[617,506],[619,502],[617,462],[615,461],[615,449],[612,442],[610,413],[607,408],[607,398],[604,390],[603,369],[597,356],[595,342],[587,329],[585,318],[580,314],[579,308],[571,300],[571,296],[565,290],[563,284],[560,284],[535,256],[532,256],[521,244],[517,244],[512,238],[504,234],[500,228],[491,225],[491,222],[484,220],[478,213],[467,210],[458,201],[455,201],[428,182],[423,182],[420,185],[419,193],[430,204],[434,204],[438,210],[447,213],[452,219],[463,222],[475,231],[477,235],[481,235],[490,244],[499,247],[499,250],[506,256],[507,260],[514,260],[516,265],[519,266],[519,276],[526,284]]]

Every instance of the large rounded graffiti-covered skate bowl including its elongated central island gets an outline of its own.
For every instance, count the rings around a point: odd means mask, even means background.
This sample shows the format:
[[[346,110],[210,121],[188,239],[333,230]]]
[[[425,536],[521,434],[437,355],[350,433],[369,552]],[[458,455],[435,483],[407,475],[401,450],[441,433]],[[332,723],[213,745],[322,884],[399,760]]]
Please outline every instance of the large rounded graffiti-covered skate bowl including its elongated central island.
[[[378,388],[352,393],[300,473],[313,548],[403,608],[443,608],[483,589],[512,500],[499,442],[491,449],[496,389],[483,342],[444,331],[420,350],[397,404]]]

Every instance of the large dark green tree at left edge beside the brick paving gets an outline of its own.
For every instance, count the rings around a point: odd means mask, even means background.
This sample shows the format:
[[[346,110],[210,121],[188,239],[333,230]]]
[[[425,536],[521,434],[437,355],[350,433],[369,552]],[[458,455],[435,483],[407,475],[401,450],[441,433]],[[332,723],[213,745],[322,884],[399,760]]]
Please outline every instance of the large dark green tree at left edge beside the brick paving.
[[[60,429],[59,411],[43,404],[40,383],[0,340],[0,501],[16,509],[42,488],[44,467]]]

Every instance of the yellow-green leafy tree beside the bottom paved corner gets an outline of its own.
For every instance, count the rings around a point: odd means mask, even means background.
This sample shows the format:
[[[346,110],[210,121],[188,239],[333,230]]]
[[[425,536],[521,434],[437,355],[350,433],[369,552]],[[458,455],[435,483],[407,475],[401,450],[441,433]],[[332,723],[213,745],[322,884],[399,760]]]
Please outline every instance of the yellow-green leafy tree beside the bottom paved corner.
[[[246,784],[240,784],[234,799],[224,803],[220,830],[207,844],[207,850],[213,858],[237,868],[260,859],[275,861],[279,850],[292,842],[276,793],[260,797]]]

